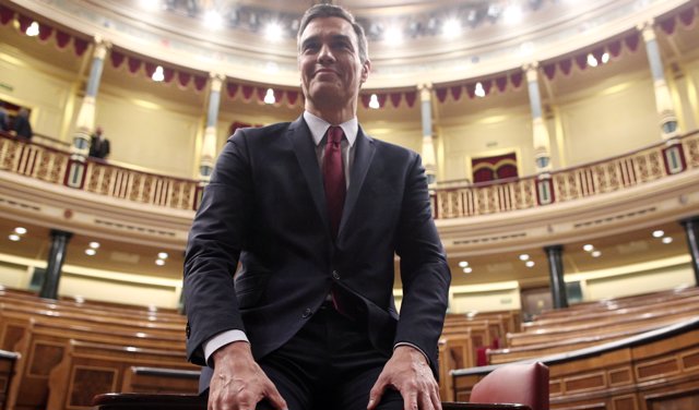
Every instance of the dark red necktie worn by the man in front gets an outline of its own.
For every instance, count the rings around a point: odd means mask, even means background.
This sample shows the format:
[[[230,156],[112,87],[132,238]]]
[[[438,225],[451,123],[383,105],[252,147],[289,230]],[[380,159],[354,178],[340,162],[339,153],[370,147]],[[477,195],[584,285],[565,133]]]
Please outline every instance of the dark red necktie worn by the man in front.
[[[345,169],[342,166],[341,142],[344,133],[340,126],[328,129],[325,136],[325,153],[323,155],[323,185],[325,188],[325,203],[333,238],[337,237],[342,207],[345,204]]]

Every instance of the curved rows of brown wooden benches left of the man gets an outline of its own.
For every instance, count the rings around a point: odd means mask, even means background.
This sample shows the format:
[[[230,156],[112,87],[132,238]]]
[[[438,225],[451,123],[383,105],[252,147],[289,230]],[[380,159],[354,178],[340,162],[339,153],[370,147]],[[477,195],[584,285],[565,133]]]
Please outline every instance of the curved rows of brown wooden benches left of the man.
[[[19,354],[8,409],[90,409],[107,391],[197,393],[197,379],[154,386],[137,369],[199,372],[175,312],[43,300],[0,291],[0,347]],[[150,385],[149,385],[150,384]]]

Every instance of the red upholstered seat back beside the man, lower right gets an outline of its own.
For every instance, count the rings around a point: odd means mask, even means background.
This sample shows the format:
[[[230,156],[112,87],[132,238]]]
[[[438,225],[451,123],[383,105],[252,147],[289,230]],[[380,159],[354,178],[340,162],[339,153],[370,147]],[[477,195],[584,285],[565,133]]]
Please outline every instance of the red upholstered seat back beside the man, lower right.
[[[505,364],[473,386],[471,402],[520,403],[548,410],[548,367],[543,363]]]

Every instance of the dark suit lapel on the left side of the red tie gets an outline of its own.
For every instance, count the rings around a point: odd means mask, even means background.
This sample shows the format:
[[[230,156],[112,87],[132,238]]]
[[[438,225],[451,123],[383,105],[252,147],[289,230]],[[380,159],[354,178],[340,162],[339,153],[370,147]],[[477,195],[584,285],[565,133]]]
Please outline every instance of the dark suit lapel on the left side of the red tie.
[[[320,214],[325,226],[330,227],[328,212],[325,210],[328,206],[325,205],[323,180],[320,174],[320,167],[318,167],[316,147],[313,146],[313,138],[310,135],[310,130],[308,129],[306,121],[304,121],[303,116],[289,125],[287,133],[288,137],[292,140],[298,166],[301,168],[301,172],[304,173],[306,183],[308,184],[308,190],[313,197],[316,210]]]

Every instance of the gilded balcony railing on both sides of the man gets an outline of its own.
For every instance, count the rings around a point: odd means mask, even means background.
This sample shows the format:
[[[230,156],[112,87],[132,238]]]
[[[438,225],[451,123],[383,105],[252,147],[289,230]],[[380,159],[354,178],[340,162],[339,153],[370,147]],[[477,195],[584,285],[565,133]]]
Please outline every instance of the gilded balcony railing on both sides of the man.
[[[618,157],[547,174],[431,191],[435,218],[463,218],[546,206],[619,191],[699,168],[699,131]],[[108,197],[196,209],[202,184],[143,172],[0,134],[0,169]]]

